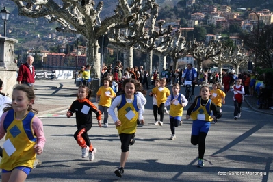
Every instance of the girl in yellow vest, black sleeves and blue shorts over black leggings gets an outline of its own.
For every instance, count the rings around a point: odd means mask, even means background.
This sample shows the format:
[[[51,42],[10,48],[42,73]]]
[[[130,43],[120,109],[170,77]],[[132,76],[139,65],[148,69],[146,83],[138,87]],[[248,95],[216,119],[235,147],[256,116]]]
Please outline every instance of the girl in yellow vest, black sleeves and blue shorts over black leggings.
[[[200,88],[200,96],[194,99],[194,103],[187,109],[186,119],[192,118],[192,137],[191,143],[198,144],[198,164],[197,167],[204,166],[203,158],[205,154],[205,139],[211,126],[211,121],[221,118],[222,114],[215,103],[209,99],[209,87]]]

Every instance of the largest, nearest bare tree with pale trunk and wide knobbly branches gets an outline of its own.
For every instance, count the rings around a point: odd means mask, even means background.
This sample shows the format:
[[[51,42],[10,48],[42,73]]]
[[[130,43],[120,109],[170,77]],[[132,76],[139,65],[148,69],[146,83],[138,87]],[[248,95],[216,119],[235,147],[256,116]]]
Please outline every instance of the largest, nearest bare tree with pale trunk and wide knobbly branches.
[[[87,60],[95,68],[95,77],[99,77],[100,57],[98,55],[97,40],[113,27],[142,28],[138,25],[139,18],[146,18],[144,14],[150,10],[155,0],[134,0],[131,5],[126,0],[118,0],[117,8],[113,16],[103,20],[99,14],[103,8],[103,1],[95,7],[92,0],[61,0],[58,4],[55,0],[11,0],[18,7],[18,14],[30,18],[47,18],[49,23],[60,23],[57,31],[77,33],[86,37]],[[141,4],[141,5],[140,5]]]

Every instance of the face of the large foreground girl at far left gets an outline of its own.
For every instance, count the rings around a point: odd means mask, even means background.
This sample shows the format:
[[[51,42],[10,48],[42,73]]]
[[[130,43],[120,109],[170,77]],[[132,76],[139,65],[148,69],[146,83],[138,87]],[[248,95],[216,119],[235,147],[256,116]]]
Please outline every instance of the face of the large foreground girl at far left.
[[[14,109],[14,112],[26,112],[31,103],[33,103],[33,101],[29,101],[26,92],[13,90],[12,108]]]

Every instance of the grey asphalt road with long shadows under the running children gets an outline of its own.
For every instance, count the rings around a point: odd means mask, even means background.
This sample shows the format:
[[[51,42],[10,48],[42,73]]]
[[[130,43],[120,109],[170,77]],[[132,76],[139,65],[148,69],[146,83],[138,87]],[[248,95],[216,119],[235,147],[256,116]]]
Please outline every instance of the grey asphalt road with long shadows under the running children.
[[[198,90],[196,87],[195,93]],[[62,101],[60,96],[55,103]],[[62,109],[40,116],[47,143],[44,153],[38,156],[42,165],[34,168],[26,181],[273,181],[271,115],[255,112],[244,103],[242,117],[233,120],[229,93],[222,118],[211,125],[207,135],[205,167],[197,168],[198,146],[190,143],[192,120],[185,120],[189,106],[183,112],[183,125],[176,129],[177,138],[168,140],[168,115],[163,127],[153,125],[153,101],[146,98],[145,125],[138,127],[121,179],[114,174],[121,151],[112,119],[108,128],[99,128],[94,118],[88,134],[98,151],[91,162],[81,158],[81,148],[73,138],[75,118],[65,118],[66,109]],[[66,102],[72,103],[73,99]]]

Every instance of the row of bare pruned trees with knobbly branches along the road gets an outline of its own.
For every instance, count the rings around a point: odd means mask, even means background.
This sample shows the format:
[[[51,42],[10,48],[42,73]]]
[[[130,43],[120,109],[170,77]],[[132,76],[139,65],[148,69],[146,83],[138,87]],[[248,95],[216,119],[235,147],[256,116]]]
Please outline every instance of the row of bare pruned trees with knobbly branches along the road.
[[[196,59],[198,70],[200,70],[201,63],[211,57],[218,56],[219,67],[223,63],[222,60],[224,62],[246,60],[246,51],[244,59],[241,59],[239,53],[236,54],[235,50],[220,42],[211,41],[205,45],[195,40],[186,41],[180,31],[173,34],[172,27],[162,29],[164,22],[157,22],[159,29],[156,31],[155,23],[159,6],[155,0],[131,1],[130,4],[125,0],[119,0],[115,13],[103,20],[99,16],[103,8],[103,1],[100,1],[98,5],[95,5],[94,1],[86,0],[62,0],[62,5],[53,0],[36,0],[31,3],[27,0],[12,1],[16,3],[20,15],[31,18],[45,17],[49,22],[60,23],[60,27],[56,28],[59,32],[77,33],[84,36],[87,40],[88,64],[96,68],[96,77],[101,74],[101,57],[98,53],[97,40],[104,34],[109,36],[110,43],[114,47],[122,51],[124,66],[133,66],[133,49],[147,53],[146,69],[150,72],[153,54],[159,55],[159,71],[166,65],[167,55],[172,57],[174,69],[177,68],[177,60],[187,54]],[[231,59],[231,55],[236,59]]]

